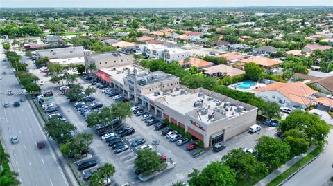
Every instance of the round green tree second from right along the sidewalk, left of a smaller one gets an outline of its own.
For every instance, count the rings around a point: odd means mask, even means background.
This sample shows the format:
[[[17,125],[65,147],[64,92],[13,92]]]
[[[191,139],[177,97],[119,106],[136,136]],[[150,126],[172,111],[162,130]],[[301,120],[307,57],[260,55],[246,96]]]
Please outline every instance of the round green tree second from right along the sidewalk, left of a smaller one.
[[[290,147],[287,143],[268,136],[262,136],[257,141],[257,159],[264,162],[268,169],[277,169],[289,160]]]

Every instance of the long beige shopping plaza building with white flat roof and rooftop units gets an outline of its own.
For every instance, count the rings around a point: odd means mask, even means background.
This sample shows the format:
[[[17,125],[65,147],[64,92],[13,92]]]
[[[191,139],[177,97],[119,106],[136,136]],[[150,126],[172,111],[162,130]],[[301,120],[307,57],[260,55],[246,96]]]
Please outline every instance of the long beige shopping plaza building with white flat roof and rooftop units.
[[[128,61],[99,68],[96,77],[157,118],[182,127],[203,141],[204,147],[224,142],[255,124],[255,106],[207,89],[188,89],[180,86],[176,76],[150,72]]]

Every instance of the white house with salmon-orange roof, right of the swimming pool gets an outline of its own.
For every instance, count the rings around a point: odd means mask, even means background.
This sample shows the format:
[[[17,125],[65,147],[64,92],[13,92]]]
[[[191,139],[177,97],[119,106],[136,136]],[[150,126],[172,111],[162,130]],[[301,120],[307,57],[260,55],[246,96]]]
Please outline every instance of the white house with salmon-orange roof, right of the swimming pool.
[[[315,100],[315,93],[309,86],[302,82],[274,82],[254,90],[255,95],[292,107],[306,109]]]

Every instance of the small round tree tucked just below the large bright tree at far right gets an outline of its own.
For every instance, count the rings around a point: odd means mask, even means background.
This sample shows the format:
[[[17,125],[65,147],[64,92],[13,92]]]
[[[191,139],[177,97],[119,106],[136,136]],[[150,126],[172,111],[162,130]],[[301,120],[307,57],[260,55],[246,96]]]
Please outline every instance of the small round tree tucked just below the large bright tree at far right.
[[[289,145],[291,157],[305,153],[311,144],[305,131],[297,128],[286,131],[283,134],[283,141]]]

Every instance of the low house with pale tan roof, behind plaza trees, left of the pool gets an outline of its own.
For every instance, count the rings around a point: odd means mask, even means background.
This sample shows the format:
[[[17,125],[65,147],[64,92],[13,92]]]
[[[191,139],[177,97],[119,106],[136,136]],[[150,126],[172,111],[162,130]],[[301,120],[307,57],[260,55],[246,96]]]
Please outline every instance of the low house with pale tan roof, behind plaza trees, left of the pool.
[[[245,71],[242,71],[238,68],[233,68],[225,64],[219,64],[216,66],[211,66],[204,68],[204,73],[210,77],[234,77],[237,75],[245,74]]]

